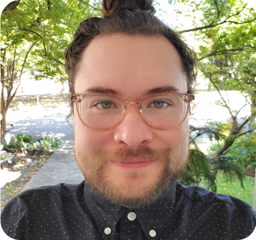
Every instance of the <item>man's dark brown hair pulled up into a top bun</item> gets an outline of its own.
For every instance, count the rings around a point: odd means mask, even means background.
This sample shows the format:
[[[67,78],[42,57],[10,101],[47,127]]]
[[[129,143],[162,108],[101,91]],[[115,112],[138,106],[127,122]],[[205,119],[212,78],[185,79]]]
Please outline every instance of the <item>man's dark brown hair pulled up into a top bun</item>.
[[[103,0],[103,17],[85,18],[79,25],[72,43],[65,51],[65,70],[69,76],[70,94],[74,93],[74,78],[83,51],[98,34],[127,34],[129,36],[165,36],[181,56],[187,79],[187,93],[195,93],[196,53],[170,27],[154,16],[153,0]],[[70,101],[73,113],[73,102]]]

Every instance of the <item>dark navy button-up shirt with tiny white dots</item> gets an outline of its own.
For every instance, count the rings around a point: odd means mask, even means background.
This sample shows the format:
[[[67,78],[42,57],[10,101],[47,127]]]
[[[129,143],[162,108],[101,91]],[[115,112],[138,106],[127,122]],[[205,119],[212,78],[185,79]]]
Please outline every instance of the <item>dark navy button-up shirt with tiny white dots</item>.
[[[154,204],[128,209],[83,181],[19,193],[4,206],[1,227],[15,240],[242,240],[253,234],[256,212],[178,181]]]

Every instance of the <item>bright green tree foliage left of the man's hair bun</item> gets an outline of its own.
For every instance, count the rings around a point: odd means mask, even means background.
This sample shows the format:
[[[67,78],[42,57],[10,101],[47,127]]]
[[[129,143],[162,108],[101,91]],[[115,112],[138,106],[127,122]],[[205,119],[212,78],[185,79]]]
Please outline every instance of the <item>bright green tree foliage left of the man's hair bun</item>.
[[[40,72],[37,79],[47,76],[59,81],[59,76],[66,77],[65,48],[81,20],[97,12],[80,0],[23,0],[16,9],[2,12],[1,42],[10,52],[15,47],[21,51],[25,45],[37,42],[27,67]]]

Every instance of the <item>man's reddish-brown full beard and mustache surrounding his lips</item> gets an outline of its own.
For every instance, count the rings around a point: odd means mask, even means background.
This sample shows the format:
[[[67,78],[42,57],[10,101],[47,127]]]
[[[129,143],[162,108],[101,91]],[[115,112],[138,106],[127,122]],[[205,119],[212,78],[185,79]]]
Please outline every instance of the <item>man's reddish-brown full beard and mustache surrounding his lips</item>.
[[[75,143],[74,143],[74,146]],[[74,156],[80,171],[87,183],[96,194],[103,195],[111,203],[127,208],[141,208],[148,206],[165,195],[170,186],[182,176],[189,155],[189,148],[183,146],[177,157],[174,158],[169,148],[154,150],[146,145],[141,145],[136,150],[126,146],[116,151],[99,151],[93,158],[74,147]],[[150,161],[157,159],[163,166],[150,184],[145,181],[145,173],[140,170],[129,171],[120,183],[110,177],[106,171],[107,164],[112,159],[126,159],[140,157]],[[147,174],[148,175],[148,174]]]

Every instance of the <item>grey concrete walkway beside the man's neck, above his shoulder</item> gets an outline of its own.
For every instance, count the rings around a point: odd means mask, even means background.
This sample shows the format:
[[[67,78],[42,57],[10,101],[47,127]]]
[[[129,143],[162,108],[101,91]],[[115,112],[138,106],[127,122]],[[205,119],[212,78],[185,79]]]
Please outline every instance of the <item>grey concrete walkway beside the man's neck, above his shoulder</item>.
[[[73,157],[73,141],[65,141],[21,191],[59,183],[79,184],[83,180]]]

